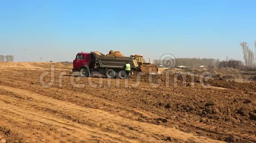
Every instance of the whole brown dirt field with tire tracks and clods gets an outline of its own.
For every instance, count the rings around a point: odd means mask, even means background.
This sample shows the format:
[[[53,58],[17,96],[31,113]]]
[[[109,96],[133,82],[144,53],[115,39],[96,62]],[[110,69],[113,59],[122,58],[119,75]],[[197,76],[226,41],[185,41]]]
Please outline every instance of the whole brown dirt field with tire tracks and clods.
[[[256,142],[255,82],[154,75],[149,83],[148,75],[79,78],[71,70],[0,62],[0,143]]]

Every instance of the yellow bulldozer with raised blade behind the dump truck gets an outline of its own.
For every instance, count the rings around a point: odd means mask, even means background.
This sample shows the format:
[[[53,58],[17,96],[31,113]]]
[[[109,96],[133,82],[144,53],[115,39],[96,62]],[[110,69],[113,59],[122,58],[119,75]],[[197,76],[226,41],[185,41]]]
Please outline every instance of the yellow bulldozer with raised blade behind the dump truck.
[[[157,73],[158,72],[158,67],[154,64],[151,64],[150,59],[149,63],[145,62],[143,59],[143,56],[141,55],[131,55],[133,60],[136,60],[137,63],[139,64],[139,68],[142,72],[146,73]]]

